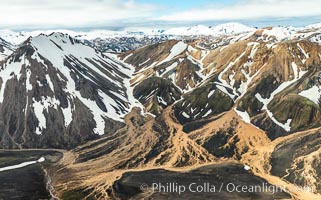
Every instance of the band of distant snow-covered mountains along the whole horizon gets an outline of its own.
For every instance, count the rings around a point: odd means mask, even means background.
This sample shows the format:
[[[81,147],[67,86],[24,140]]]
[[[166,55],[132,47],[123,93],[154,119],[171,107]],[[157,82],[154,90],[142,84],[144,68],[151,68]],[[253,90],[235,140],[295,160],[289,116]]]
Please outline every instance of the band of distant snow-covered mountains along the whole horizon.
[[[309,28],[310,27],[310,28]],[[277,40],[286,39],[288,37],[296,37],[300,30],[308,30],[313,27],[315,30],[320,29],[318,25],[311,25],[302,28],[294,27],[270,27],[270,28],[251,28],[240,23],[226,23],[214,27],[196,25],[192,27],[177,27],[167,30],[162,29],[146,29],[141,30],[127,30],[127,31],[108,31],[108,30],[94,30],[89,32],[76,32],[70,30],[46,30],[46,31],[31,31],[31,32],[13,32],[9,30],[0,31],[0,37],[13,45],[19,45],[28,37],[35,37],[41,33],[51,34],[52,32],[66,33],[78,40],[83,41],[87,45],[97,48],[103,52],[109,53],[123,53],[129,50],[134,50],[147,45],[164,42],[167,40],[186,40],[186,39],[199,39],[203,37],[207,46],[210,43],[217,45],[225,45],[229,39],[237,39],[235,35],[246,37],[245,33],[256,32],[258,35],[263,34],[264,37],[271,36]],[[222,37],[226,36],[226,37]],[[302,36],[302,34],[301,34]],[[306,36],[302,36],[306,37]],[[318,38],[316,38],[318,39]],[[218,43],[217,40],[222,40]],[[212,47],[211,47],[212,48]]]

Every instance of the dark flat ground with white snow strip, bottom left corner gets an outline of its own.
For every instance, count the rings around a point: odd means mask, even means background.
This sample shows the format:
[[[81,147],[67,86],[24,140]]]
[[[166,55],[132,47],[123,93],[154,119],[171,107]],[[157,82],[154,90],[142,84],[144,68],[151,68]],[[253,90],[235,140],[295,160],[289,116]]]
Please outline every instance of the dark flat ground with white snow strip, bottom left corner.
[[[50,199],[46,168],[61,158],[57,150],[0,150],[1,169],[21,166],[0,171],[0,199]]]

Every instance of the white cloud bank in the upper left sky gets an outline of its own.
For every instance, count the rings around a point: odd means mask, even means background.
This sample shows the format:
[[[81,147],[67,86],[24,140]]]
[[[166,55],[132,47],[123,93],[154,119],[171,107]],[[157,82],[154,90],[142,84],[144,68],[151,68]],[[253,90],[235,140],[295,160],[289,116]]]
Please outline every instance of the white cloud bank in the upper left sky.
[[[134,0],[0,0],[0,27],[108,25],[146,18],[155,6]]]

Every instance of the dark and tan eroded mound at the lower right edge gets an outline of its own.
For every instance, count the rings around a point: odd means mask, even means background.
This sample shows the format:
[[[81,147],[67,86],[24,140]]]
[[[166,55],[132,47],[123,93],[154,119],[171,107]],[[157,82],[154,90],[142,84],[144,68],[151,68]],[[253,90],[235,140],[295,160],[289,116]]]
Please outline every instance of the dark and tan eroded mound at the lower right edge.
[[[271,174],[320,193],[320,147],[320,130],[280,143],[271,156]]]

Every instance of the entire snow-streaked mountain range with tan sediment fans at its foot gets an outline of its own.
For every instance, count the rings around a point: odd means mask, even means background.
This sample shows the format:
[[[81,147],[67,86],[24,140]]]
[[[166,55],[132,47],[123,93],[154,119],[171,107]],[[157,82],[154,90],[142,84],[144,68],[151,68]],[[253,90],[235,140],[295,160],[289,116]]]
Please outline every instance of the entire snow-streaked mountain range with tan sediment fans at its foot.
[[[0,147],[63,149],[61,199],[156,198],[135,173],[218,163],[288,189],[263,199],[320,199],[321,26],[155,32],[2,32]]]

